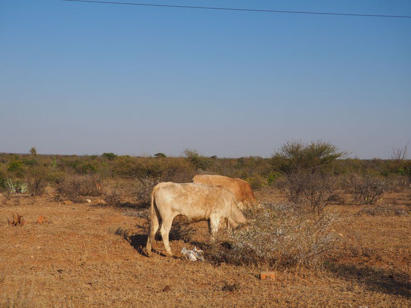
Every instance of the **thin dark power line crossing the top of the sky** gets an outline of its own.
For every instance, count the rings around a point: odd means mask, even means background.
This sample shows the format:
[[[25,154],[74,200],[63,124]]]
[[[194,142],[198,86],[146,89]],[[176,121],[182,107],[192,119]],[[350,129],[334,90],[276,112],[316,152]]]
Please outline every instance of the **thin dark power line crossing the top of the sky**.
[[[235,8],[217,8],[217,7],[201,7],[201,6],[185,6],[185,5],[166,5],[166,4],[148,4],[148,3],[126,3],[126,2],[108,2],[108,1],[89,1],[89,0],[61,0],[61,1],[88,2],[88,3],[105,3],[105,4],[124,4],[124,5],[138,5],[138,6],[151,6],[151,7],[167,7],[167,8],[225,10],[225,11],[247,11],[247,12],[267,12],[267,13],[291,13],[291,14],[317,14],[317,15],[342,15],[342,16],[411,18],[411,16],[400,16],[400,15],[372,15],[372,14],[324,13],[324,12],[304,12],[304,11],[278,11],[278,10],[258,10],[258,9],[235,9]]]

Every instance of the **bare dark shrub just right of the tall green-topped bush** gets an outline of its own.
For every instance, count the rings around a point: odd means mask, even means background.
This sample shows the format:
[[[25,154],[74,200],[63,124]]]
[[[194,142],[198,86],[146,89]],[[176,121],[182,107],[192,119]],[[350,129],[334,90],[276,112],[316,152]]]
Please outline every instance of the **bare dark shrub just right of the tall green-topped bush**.
[[[387,181],[371,175],[350,174],[345,180],[347,192],[354,202],[360,204],[375,204],[389,188]]]

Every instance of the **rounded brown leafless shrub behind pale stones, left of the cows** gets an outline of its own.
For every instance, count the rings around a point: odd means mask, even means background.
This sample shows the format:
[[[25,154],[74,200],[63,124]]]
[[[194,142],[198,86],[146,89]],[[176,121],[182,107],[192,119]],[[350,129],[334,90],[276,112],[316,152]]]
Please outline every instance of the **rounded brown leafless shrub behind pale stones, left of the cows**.
[[[71,175],[57,185],[57,191],[73,202],[83,202],[84,196],[100,196],[99,178],[90,175]]]

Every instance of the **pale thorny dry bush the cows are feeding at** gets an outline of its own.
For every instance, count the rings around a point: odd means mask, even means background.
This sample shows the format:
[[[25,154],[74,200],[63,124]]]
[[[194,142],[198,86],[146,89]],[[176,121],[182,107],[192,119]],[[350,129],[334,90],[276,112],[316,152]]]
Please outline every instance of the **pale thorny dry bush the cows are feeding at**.
[[[339,240],[332,229],[340,221],[338,213],[313,216],[290,205],[265,204],[249,216],[248,229],[221,230],[205,249],[206,258],[263,267],[314,265]]]

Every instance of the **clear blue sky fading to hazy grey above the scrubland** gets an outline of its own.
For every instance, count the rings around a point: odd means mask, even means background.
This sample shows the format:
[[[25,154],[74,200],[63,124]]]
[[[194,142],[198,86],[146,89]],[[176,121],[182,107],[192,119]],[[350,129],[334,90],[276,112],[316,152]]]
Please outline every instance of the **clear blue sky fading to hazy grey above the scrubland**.
[[[122,2],[140,2],[126,1]],[[411,15],[410,1],[150,1]],[[0,2],[0,152],[269,157],[411,140],[411,18]]]

